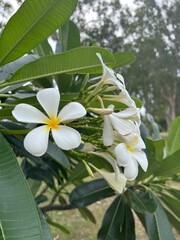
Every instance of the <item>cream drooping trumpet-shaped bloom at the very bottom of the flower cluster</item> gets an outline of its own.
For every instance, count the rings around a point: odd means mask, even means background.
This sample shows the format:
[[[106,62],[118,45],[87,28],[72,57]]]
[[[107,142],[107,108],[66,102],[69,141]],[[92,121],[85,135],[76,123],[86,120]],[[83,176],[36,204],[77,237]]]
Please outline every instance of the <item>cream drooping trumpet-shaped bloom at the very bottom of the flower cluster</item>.
[[[90,164],[103,178],[104,180],[109,184],[109,186],[114,189],[118,193],[122,193],[126,186],[126,178],[124,174],[119,173],[118,176],[115,176],[115,173],[105,172],[98,168],[96,168],[94,165]]]

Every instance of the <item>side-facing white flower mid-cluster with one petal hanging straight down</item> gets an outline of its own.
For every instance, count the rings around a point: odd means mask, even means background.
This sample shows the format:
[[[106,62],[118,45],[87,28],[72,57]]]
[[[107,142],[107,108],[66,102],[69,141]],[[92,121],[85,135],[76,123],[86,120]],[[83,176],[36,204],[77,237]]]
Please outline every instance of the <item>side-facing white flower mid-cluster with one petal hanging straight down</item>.
[[[108,109],[114,109],[114,105],[110,105]],[[109,115],[104,115],[104,125],[103,125],[103,144],[105,146],[111,146],[114,143],[114,131],[115,129],[120,135],[130,134],[134,128],[135,124],[129,120],[135,114],[135,109],[130,108],[118,113],[111,113]]]

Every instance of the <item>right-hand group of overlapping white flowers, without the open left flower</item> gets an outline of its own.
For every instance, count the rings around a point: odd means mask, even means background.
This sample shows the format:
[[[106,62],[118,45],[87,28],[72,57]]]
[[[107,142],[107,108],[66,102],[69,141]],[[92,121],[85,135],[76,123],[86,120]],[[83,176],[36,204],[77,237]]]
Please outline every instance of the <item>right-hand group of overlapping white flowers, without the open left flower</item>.
[[[118,167],[123,167],[124,176],[128,180],[133,180],[138,175],[138,165],[144,171],[148,167],[146,154],[143,151],[145,144],[139,130],[141,124],[140,112],[126,90],[123,77],[120,74],[116,75],[112,69],[108,68],[99,53],[97,53],[97,56],[103,68],[103,75],[100,82],[107,85],[114,85],[116,86],[116,90],[118,90],[118,95],[107,95],[106,99],[121,102],[127,108],[116,111],[115,106],[112,104],[106,108],[111,111],[103,114],[103,144],[108,147],[111,155],[102,152],[96,152],[95,154],[104,157],[111,163],[115,170],[116,178],[119,175]],[[102,100],[101,107],[105,109]]]

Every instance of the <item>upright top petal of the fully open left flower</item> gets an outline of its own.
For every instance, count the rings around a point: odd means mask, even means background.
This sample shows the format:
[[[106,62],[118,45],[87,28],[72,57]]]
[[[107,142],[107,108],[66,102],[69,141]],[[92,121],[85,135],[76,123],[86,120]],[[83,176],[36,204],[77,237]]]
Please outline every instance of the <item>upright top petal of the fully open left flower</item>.
[[[37,93],[37,99],[48,116],[57,117],[60,94],[55,88],[46,88]]]

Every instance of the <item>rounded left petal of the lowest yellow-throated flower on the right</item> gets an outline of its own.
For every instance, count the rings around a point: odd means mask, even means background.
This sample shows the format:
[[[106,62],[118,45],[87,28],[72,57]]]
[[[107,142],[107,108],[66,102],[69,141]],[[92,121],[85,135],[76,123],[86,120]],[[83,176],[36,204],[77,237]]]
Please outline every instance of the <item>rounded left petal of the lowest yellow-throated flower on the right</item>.
[[[128,164],[132,161],[132,157],[126,147],[126,144],[124,143],[118,144],[115,147],[114,152],[116,154],[116,159],[119,166],[123,167],[128,166]]]

